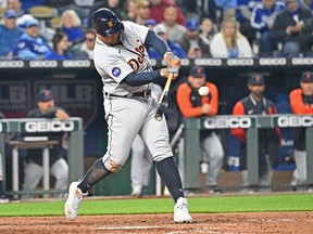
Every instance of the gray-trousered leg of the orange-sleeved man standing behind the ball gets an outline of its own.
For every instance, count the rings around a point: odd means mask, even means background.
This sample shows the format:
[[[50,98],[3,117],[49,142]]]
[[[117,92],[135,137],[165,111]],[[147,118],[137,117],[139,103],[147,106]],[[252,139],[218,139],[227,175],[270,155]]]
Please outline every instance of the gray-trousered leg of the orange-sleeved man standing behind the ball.
[[[212,132],[201,142],[201,146],[209,156],[209,171],[206,173],[206,186],[210,193],[220,194],[222,191],[217,187],[217,178],[223,166],[224,150],[221,140]]]

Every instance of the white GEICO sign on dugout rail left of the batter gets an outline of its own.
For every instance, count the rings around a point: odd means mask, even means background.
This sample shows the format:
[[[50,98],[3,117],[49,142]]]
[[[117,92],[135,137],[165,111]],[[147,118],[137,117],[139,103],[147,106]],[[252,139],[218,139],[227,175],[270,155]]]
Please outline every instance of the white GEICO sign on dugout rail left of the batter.
[[[25,125],[26,132],[61,132],[73,130],[73,121],[28,121]]]

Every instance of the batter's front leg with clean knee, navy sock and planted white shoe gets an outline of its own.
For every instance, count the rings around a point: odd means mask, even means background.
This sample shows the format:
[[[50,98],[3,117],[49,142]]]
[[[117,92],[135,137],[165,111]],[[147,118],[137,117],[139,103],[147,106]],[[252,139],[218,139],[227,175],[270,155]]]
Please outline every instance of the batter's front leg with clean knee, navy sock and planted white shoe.
[[[149,100],[149,102],[151,107],[153,107],[147,116],[147,120],[142,125],[139,134],[151,152],[156,170],[176,204],[174,207],[174,221],[191,222],[192,218],[189,214],[188,202],[184,198],[180,176],[170,146],[165,118],[156,121],[154,118],[156,103],[153,100]]]

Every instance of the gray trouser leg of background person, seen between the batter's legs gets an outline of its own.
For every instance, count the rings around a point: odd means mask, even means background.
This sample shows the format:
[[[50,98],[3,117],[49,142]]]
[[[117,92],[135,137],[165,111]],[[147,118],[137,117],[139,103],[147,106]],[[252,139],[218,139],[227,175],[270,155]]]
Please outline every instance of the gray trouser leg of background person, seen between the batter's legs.
[[[130,182],[132,195],[141,196],[143,186],[146,145],[139,135],[136,135],[132,145]]]

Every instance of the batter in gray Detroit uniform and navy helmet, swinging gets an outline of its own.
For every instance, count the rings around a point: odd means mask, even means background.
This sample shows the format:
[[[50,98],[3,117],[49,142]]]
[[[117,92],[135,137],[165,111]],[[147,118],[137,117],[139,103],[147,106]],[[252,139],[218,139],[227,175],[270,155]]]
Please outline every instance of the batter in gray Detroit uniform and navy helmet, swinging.
[[[151,29],[135,23],[121,22],[109,9],[92,14],[97,41],[93,51],[95,66],[103,81],[108,150],[95,161],[82,181],[72,182],[64,211],[74,220],[88,188],[117,172],[126,161],[137,134],[152,154],[155,167],[175,202],[174,221],[191,222],[188,202],[184,197],[181,180],[168,142],[166,121],[156,121],[155,98],[151,96],[152,81],[173,74],[178,77],[180,60]],[[168,67],[152,70],[147,49],[159,51]]]

